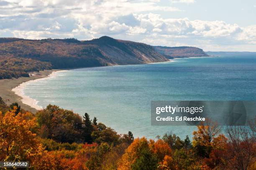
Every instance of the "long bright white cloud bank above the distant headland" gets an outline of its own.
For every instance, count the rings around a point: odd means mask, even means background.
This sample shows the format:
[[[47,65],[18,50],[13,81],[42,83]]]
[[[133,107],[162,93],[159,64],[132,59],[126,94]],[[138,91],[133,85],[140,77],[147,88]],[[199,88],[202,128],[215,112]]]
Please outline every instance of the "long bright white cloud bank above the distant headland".
[[[218,20],[163,19],[160,15],[151,13],[137,15],[137,19],[141,20],[143,28],[161,35],[225,37],[242,31],[237,24],[227,24]]]

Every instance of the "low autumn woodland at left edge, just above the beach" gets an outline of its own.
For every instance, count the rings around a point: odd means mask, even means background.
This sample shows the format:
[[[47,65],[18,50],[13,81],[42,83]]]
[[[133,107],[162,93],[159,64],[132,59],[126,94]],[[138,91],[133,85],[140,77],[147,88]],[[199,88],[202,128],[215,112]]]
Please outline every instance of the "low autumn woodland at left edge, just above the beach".
[[[51,64],[31,58],[0,56],[0,79],[28,77],[28,72],[51,69]]]

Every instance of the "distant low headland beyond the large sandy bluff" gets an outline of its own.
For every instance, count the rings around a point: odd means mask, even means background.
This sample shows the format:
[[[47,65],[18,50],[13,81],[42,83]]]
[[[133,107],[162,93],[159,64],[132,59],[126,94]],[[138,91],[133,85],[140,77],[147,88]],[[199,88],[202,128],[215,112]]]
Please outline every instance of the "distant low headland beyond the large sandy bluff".
[[[154,46],[158,53],[166,56],[167,58],[187,58],[187,57],[208,57],[201,48],[197,47],[163,47]]]

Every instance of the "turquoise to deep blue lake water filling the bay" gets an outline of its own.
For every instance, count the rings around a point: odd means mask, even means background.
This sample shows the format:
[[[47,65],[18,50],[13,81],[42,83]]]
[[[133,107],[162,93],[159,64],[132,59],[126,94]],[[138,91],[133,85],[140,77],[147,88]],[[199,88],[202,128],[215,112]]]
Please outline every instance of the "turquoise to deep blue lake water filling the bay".
[[[172,131],[182,139],[194,126],[151,126],[151,100],[256,100],[256,56],[184,58],[175,62],[59,72],[31,82],[24,93],[112,127],[154,139]]]

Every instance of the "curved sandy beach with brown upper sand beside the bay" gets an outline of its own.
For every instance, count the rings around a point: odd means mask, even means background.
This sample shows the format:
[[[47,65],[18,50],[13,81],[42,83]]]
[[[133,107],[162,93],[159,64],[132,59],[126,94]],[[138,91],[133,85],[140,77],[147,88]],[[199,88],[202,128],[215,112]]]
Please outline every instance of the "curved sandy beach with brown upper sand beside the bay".
[[[2,79],[0,80],[0,96],[4,99],[4,101],[6,101],[7,104],[17,102],[21,108],[36,113],[36,111],[41,109],[41,107],[37,105],[36,100],[31,99],[30,97],[23,94],[23,88],[26,86],[25,82],[47,78],[52,76],[56,71],[60,70],[39,71],[38,74],[32,74],[31,77]]]

